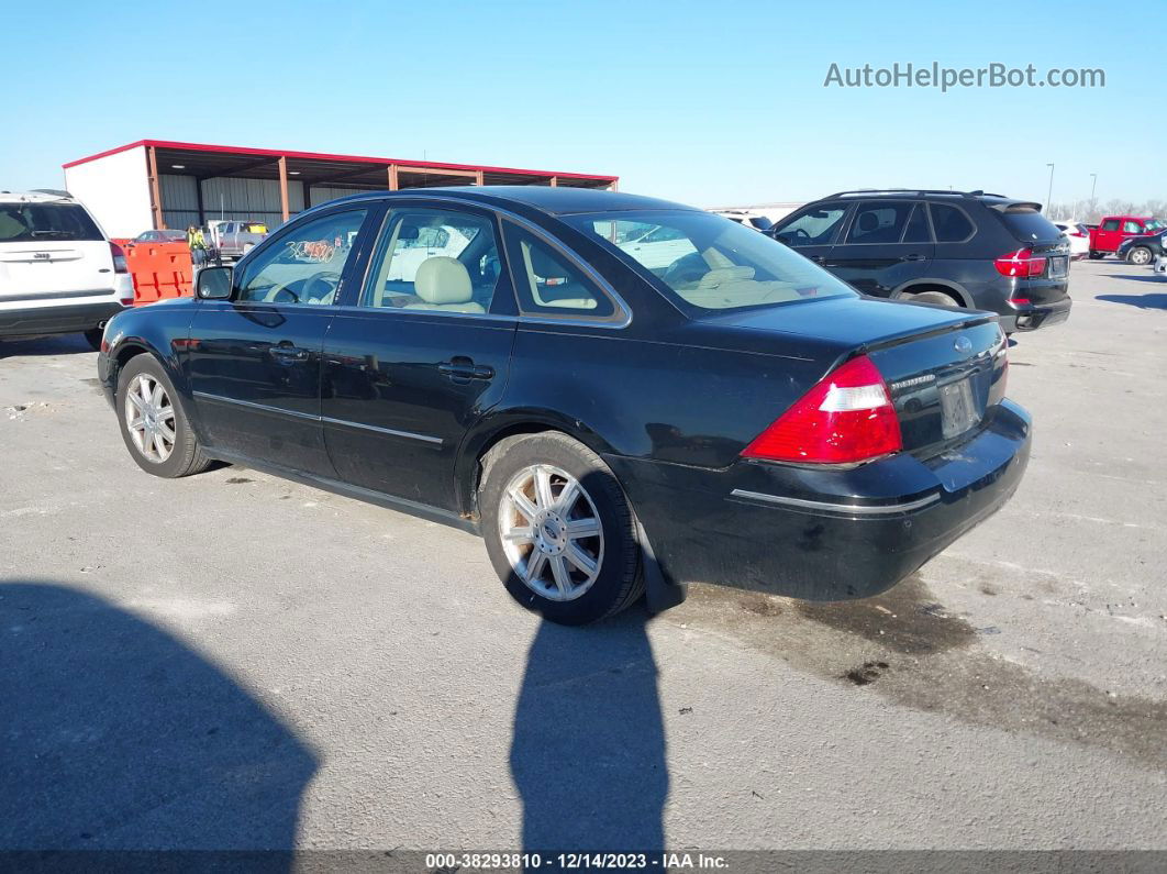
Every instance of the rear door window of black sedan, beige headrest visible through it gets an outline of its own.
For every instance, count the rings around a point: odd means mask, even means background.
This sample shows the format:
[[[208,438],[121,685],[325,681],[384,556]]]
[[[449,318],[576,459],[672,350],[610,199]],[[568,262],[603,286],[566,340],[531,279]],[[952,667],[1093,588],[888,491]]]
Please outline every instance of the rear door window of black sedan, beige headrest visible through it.
[[[361,302],[481,315],[490,309],[498,274],[489,218],[448,209],[394,209],[385,219]]]

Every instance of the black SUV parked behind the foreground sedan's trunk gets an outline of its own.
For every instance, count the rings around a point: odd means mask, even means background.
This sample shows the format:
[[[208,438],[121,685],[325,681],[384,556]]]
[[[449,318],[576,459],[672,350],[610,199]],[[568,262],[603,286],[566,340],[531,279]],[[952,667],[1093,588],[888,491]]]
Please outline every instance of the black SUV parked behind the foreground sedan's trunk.
[[[1069,243],[1040,203],[984,191],[839,191],[769,233],[864,294],[987,309],[1006,333],[1070,315]]]

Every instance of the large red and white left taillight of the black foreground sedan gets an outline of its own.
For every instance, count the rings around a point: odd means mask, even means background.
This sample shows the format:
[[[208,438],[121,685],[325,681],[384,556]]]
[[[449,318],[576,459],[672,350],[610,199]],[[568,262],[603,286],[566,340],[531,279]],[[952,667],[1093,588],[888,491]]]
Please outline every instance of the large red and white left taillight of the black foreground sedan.
[[[824,377],[742,450],[747,459],[853,464],[903,448],[883,377],[867,356]]]

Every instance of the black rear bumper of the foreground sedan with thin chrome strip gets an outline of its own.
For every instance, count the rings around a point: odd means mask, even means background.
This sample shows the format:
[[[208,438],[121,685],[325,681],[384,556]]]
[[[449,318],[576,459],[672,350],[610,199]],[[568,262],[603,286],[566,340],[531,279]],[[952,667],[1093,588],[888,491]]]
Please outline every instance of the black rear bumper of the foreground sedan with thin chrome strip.
[[[850,470],[739,462],[711,471],[626,457],[624,483],[665,574],[818,601],[890,588],[998,510],[1029,459],[1011,401],[967,443]]]

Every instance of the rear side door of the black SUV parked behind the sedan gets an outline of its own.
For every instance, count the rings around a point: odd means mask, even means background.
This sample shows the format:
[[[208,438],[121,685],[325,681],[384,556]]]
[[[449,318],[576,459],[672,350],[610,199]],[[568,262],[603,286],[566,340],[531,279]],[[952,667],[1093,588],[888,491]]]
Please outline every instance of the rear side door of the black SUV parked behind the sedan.
[[[864,294],[887,298],[927,275],[935,249],[923,203],[864,201],[826,267]]]

